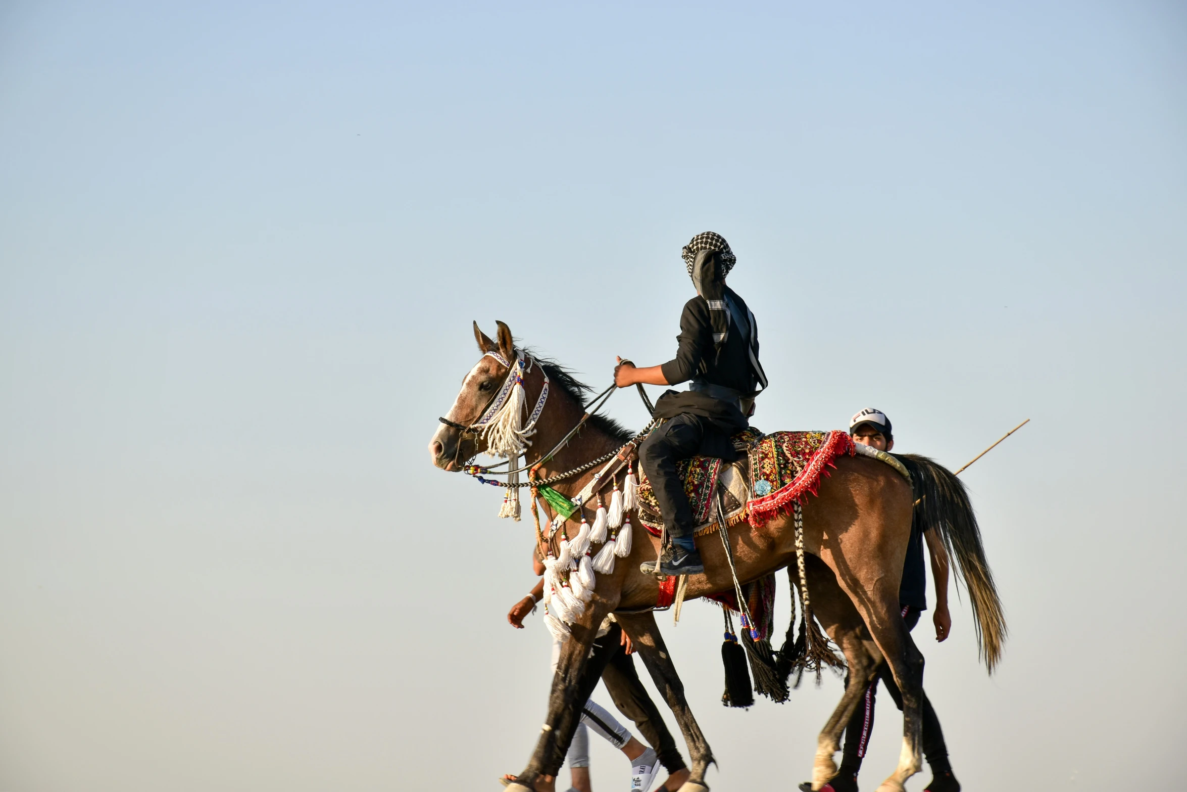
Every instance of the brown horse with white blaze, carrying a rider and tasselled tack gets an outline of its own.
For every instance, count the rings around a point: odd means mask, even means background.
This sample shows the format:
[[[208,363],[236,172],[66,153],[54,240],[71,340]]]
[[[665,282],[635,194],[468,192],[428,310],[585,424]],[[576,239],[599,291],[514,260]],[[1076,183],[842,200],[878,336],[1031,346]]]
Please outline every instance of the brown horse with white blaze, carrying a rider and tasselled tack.
[[[483,414],[501,386],[508,367],[495,356],[514,361],[516,349],[510,330],[499,322],[497,342],[474,325],[483,357],[466,374],[443,425],[430,443],[433,463],[444,470],[459,470],[466,460],[485,449],[481,437],[465,427]],[[535,404],[545,374],[551,391],[535,424],[528,462],[539,460],[572,430],[584,414],[589,388],[573,380],[559,366],[535,360],[523,375],[527,405]],[[610,454],[630,435],[610,420],[586,422],[554,456],[540,468],[540,476],[577,468]],[[821,481],[814,499],[802,506],[804,545],[810,556],[806,574],[811,601],[821,626],[845,654],[850,683],[836,711],[818,739],[813,767],[813,788],[820,788],[837,773],[833,754],[839,749],[845,723],[856,709],[880,663],[886,661],[902,691],[903,745],[894,773],[880,792],[904,792],[903,781],[921,768],[920,702],[923,657],[915,647],[900,615],[899,583],[912,527],[913,502],[923,496],[921,508],[958,562],[977,620],[978,640],[986,666],[992,671],[1001,657],[1005,623],[992,577],[985,563],[976,518],[958,480],[940,465],[915,457],[909,465],[915,490],[889,465],[868,457],[839,457],[832,476]],[[594,470],[572,476],[554,488],[572,498],[594,476]],[[575,515],[577,517],[577,515]],[[741,582],[754,581],[794,563],[795,541],[792,517],[782,515],[762,528],[740,526],[730,532],[730,546]],[[637,520],[633,521],[639,525]],[[591,692],[583,679],[595,632],[609,613],[643,658],[656,689],[672,708],[684,733],[691,758],[691,779],[681,792],[707,791],[705,771],[713,761],[709,743],[688,709],[684,686],[675,672],[653,614],[658,587],[654,576],[640,571],[643,560],[658,555],[658,539],[643,530],[634,531],[631,552],[618,559],[610,575],[597,575],[594,598],[572,625],[552,683],[548,711],[540,739],[527,767],[509,788],[518,792],[552,792],[552,778],[560,769],[577,727],[577,714]],[[687,579],[688,598],[732,590],[724,547],[717,536],[699,537],[698,549],[705,574]],[[635,613],[630,613],[635,612]],[[642,612],[642,613],[640,613]],[[585,674],[588,677],[589,674]],[[594,680],[596,684],[596,679]]]

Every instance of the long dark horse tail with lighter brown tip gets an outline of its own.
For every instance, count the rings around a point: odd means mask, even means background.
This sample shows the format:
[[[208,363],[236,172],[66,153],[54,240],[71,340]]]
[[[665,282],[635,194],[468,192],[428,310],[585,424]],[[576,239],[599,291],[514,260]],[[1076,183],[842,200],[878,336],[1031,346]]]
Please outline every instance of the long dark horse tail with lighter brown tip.
[[[948,555],[957,560],[953,574],[957,582],[963,582],[969,590],[977,648],[985,669],[994,673],[1002,659],[1002,645],[1008,631],[969,493],[951,470],[926,456],[895,454],[895,457],[910,470],[916,499],[915,519],[921,521],[920,527],[923,531],[934,528]]]

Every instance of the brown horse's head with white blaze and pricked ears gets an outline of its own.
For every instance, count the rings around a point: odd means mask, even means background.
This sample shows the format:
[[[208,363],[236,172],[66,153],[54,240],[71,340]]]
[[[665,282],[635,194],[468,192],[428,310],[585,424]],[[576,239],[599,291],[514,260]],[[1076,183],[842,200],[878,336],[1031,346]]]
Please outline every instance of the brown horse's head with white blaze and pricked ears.
[[[429,443],[429,454],[433,458],[433,464],[443,470],[461,470],[465,461],[485,450],[487,442],[477,432],[466,431],[463,427],[471,426],[490,404],[499,388],[507,379],[508,368],[487,353],[495,353],[503,360],[515,361],[515,346],[512,342],[512,331],[502,322],[499,325],[499,342],[494,342],[478,329],[478,323],[474,323],[474,337],[478,342],[478,350],[482,357],[475,363],[470,373],[462,380],[462,389],[458,391],[453,406],[445,413],[449,423],[442,425],[433,433],[433,439]]]

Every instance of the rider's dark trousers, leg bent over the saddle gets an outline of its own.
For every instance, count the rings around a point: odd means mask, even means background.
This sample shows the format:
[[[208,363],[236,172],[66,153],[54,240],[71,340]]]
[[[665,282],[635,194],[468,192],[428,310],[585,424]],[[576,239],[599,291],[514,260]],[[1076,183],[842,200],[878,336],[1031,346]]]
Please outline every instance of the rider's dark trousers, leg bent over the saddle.
[[[675,463],[693,456],[737,458],[726,430],[713,420],[683,413],[656,427],[639,446],[639,465],[660,505],[664,526],[673,538],[692,538],[697,528]]]

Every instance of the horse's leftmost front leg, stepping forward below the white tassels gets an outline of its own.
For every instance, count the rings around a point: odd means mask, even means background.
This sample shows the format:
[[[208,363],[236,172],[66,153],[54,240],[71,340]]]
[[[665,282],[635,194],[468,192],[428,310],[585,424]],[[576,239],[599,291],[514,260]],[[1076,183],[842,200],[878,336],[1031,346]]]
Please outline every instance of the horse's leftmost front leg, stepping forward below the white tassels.
[[[582,708],[601,679],[597,674],[583,674],[594,645],[597,627],[610,610],[610,603],[595,596],[579,623],[572,625],[572,635],[560,647],[557,673],[552,677],[548,695],[548,714],[540,729],[540,739],[523,772],[508,792],[553,792],[554,778],[565,761],[569,743],[580,722]],[[584,676],[584,679],[583,679]],[[592,679],[590,678],[592,677]]]

